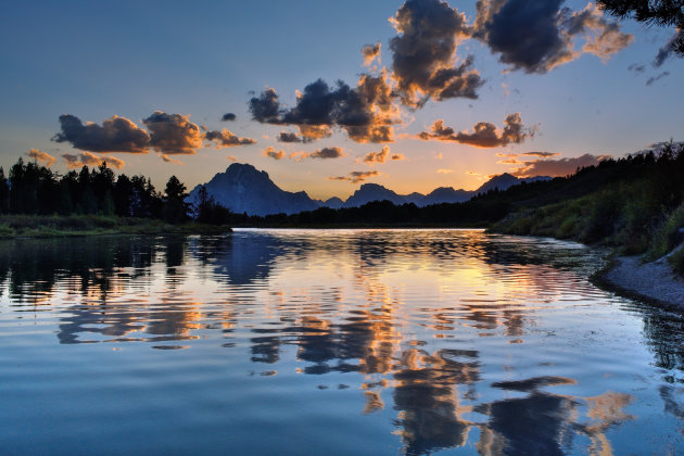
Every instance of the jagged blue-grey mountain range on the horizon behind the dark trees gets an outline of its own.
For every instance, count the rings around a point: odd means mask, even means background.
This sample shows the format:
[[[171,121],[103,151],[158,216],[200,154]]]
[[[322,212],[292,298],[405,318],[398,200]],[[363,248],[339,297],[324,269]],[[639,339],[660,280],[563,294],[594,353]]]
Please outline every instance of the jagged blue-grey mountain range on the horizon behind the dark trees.
[[[498,188],[506,190],[521,182],[548,180],[548,176],[536,176],[519,179],[508,173],[493,177],[477,190],[454,189],[440,187],[428,194],[414,192],[398,194],[377,183],[364,183],[346,201],[333,197],[326,201],[314,200],[305,191],[290,192],[280,189],[268,177],[268,173],[258,170],[249,164],[233,163],[225,173],[217,173],[212,180],[204,183],[208,195],[214,201],[228,207],[235,213],[248,215],[296,214],[302,211],[314,211],[318,207],[356,207],[371,201],[389,200],[394,204],[414,203],[427,206],[440,203],[460,203],[470,200],[479,193],[486,193]],[[190,192],[187,201],[197,203],[202,185]]]

